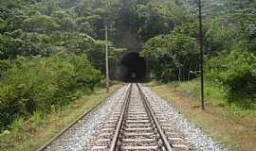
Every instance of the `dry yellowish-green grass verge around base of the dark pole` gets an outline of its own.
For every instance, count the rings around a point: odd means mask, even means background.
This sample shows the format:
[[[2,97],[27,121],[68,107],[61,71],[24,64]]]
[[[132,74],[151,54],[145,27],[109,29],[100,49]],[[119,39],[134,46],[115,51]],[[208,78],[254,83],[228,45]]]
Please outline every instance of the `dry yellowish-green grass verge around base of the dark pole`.
[[[206,83],[206,110],[200,109],[198,80],[149,86],[179,109],[192,123],[230,150],[248,151],[255,148],[256,109],[245,109],[230,103],[228,90]]]

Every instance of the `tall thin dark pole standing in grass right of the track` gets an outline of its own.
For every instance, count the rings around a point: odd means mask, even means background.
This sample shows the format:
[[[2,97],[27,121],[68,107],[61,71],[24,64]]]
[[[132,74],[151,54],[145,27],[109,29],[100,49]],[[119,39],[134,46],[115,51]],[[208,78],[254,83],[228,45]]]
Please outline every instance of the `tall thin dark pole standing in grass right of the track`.
[[[199,19],[199,44],[200,44],[200,81],[201,81],[201,109],[205,109],[204,91],[204,50],[203,50],[203,24],[202,24],[202,2],[198,0],[198,19]]]

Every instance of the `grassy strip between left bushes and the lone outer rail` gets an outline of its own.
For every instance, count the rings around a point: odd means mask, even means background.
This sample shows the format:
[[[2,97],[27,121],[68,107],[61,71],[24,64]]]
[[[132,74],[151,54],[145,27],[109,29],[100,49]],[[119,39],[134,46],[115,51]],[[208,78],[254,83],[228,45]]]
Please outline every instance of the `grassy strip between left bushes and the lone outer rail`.
[[[117,90],[119,85],[112,86],[110,91]],[[96,106],[106,97],[104,89],[98,88],[91,95],[84,95],[74,103],[62,109],[52,110],[49,114],[35,112],[28,120],[15,120],[10,130],[0,134],[1,151],[35,150],[51,137],[56,135],[64,126],[69,125],[84,111]]]

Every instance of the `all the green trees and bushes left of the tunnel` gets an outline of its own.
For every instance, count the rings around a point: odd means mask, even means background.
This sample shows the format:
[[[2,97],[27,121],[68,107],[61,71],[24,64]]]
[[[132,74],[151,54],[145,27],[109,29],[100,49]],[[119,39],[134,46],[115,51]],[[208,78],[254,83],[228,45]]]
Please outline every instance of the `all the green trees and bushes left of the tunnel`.
[[[35,112],[45,116],[100,85],[103,3],[0,1],[0,131]],[[108,45],[113,65],[121,49]]]

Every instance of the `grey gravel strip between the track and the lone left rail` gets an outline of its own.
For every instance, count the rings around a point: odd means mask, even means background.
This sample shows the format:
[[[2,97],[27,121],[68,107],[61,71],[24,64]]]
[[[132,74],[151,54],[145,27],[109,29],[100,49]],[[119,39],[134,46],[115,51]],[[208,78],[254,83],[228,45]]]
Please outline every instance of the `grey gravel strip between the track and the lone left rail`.
[[[115,104],[125,92],[127,86],[109,96],[98,108],[92,110],[77,124],[64,132],[56,141],[51,143],[46,151],[84,151],[89,150],[103,122],[115,108]]]

